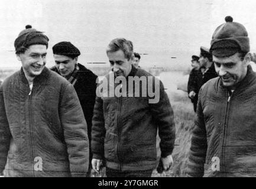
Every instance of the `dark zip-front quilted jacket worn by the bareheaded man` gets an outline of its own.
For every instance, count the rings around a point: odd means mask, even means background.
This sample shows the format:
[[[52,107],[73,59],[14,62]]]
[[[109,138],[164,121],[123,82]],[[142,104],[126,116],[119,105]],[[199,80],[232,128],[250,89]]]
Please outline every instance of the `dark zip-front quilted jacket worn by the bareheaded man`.
[[[129,76],[144,76],[147,79],[153,77],[133,66]],[[125,80],[128,80],[129,76]],[[128,82],[126,86],[123,82],[115,83],[115,92],[119,89],[118,86],[121,86],[122,90],[127,87],[127,97],[118,97],[116,93],[111,97],[111,74],[106,76],[106,80],[107,95],[103,86],[102,96],[96,97],[92,119],[93,158],[105,158],[106,167],[114,170],[153,170],[157,165],[157,128],[161,139],[161,157],[171,154],[175,140],[173,110],[163,84],[159,80],[159,84],[153,82],[153,89],[160,89],[160,99],[157,103],[149,103],[148,100],[152,96],[148,95],[147,86],[142,87],[142,82],[139,84],[140,95],[137,97],[134,96],[135,85],[129,90],[128,85],[131,83]],[[143,96],[141,92],[146,92],[146,95]],[[128,93],[132,94],[132,97],[129,97]]]

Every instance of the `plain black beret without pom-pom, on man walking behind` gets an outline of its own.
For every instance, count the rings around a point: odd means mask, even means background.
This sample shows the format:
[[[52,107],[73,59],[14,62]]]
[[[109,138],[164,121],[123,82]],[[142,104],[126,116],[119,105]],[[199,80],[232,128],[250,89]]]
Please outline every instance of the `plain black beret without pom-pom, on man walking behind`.
[[[74,58],[80,55],[80,51],[72,43],[62,41],[53,46],[53,54]]]

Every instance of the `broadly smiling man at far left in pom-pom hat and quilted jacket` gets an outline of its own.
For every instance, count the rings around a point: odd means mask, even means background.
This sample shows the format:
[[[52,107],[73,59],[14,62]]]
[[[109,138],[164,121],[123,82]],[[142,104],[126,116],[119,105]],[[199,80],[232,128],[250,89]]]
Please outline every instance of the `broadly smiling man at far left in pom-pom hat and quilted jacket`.
[[[48,38],[27,27],[14,45],[22,67],[0,87],[0,170],[5,177],[86,176],[86,120],[72,84],[45,67]]]

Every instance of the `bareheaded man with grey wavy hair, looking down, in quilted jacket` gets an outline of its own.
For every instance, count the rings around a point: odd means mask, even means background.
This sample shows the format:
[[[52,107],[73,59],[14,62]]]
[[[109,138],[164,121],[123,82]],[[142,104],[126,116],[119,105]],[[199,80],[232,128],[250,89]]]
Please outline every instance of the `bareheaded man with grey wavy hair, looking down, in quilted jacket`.
[[[112,40],[106,54],[116,80],[119,78],[127,82],[127,93],[135,93],[134,87],[128,87],[132,84],[128,83],[131,82],[128,77],[157,80],[132,65],[134,53],[131,41],[124,38]],[[111,83],[109,75],[106,76],[109,80],[107,94],[112,93],[111,90],[116,92],[120,86],[118,82]],[[145,93],[148,92],[142,83],[139,85]],[[173,109],[164,92],[163,83],[153,82],[151,87],[156,91],[159,89],[158,102],[150,103],[148,94],[96,96],[92,119],[92,167],[95,171],[98,172],[105,161],[107,177],[150,177],[157,165],[157,129],[161,139],[160,165],[163,164],[161,168],[164,170],[170,169],[175,141]]]

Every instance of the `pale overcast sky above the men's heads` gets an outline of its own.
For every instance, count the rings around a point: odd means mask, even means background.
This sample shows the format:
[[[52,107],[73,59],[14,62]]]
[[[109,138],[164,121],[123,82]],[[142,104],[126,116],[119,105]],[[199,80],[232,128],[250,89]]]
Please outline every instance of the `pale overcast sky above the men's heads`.
[[[246,2],[246,3],[245,3]],[[70,41],[82,55],[79,62],[108,61],[105,48],[116,37],[131,40],[142,55],[141,66],[188,66],[226,15],[244,24],[256,52],[256,1],[239,0],[1,0],[0,67],[17,67],[14,40],[31,24],[50,39],[51,47]],[[177,57],[177,58],[171,58]]]

